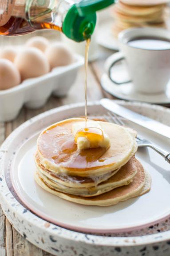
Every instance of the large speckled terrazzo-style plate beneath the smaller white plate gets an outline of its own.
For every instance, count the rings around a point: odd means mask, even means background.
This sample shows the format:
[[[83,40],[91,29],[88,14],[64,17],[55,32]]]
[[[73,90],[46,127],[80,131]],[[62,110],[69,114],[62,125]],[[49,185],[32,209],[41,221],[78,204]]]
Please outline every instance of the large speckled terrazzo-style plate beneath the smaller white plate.
[[[117,103],[170,126],[170,109],[146,103]],[[59,107],[28,120],[8,136],[0,148],[0,203],[5,215],[31,243],[57,256],[169,256],[170,219],[136,231],[107,235],[84,234],[41,219],[17,198],[9,172],[20,146],[33,133],[49,124],[71,117],[72,113],[81,116],[83,112],[84,104]],[[89,106],[91,115],[102,115],[104,112],[98,102]]]

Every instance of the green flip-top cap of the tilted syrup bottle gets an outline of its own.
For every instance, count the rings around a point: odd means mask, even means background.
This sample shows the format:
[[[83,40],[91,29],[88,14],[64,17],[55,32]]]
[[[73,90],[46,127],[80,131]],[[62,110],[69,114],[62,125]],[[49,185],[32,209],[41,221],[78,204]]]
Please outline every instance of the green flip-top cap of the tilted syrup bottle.
[[[63,21],[63,33],[80,42],[91,37],[96,24],[96,11],[106,8],[114,0],[82,0],[74,4]]]

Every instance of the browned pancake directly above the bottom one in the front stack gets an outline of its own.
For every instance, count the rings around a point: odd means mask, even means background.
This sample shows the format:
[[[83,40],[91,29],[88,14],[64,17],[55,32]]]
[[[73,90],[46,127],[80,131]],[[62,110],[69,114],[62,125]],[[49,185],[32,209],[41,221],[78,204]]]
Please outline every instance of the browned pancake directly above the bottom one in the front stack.
[[[88,188],[73,188],[69,186],[63,186],[63,184],[54,182],[50,178],[47,178],[47,176],[40,172],[39,169],[37,169],[37,173],[39,174],[40,178],[43,179],[43,182],[45,182],[54,190],[68,194],[80,195],[83,197],[90,197],[103,194],[120,186],[128,185],[130,182],[132,182],[132,179],[137,173],[137,170],[137,161],[135,157],[132,157],[126,165],[123,165],[123,167],[115,175],[107,179],[107,181],[101,182],[97,186]]]

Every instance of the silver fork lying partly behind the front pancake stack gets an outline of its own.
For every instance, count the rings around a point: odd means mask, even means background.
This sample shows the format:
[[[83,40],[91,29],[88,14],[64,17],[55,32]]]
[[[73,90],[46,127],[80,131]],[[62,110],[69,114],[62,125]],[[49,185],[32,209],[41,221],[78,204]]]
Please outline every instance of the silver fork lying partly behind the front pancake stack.
[[[120,118],[120,116],[118,116],[114,113],[108,112],[108,116],[106,117],[106,119],[108,121],[111,121],[112,123],[119,124],[119,125],[122,125],[122,126],[126,126],[125,123]],[[140,147],[149,147],[151,149],[154,149],[154,151],[156,151],[158,154],[160,154],[165,159],[165,161],[167,161],[170,164],[170,152],[168,153],[166,150],[158,147],[157,145],[153,144],[149,140],[146,140],[145,138],[142,138],[142,136],[140,136],[140,135],[137,135],[136,141],[138,143],[139,148]]]

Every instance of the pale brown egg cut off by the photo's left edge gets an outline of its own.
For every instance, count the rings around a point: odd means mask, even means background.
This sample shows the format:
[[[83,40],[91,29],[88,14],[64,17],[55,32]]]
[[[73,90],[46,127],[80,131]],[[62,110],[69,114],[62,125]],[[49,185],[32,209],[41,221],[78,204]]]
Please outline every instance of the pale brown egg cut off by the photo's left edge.
[[[20,82],[20,72],[16,66],[9,60],[0,59],[0,90],[9,89]]]

